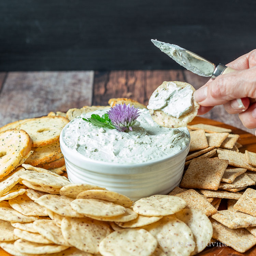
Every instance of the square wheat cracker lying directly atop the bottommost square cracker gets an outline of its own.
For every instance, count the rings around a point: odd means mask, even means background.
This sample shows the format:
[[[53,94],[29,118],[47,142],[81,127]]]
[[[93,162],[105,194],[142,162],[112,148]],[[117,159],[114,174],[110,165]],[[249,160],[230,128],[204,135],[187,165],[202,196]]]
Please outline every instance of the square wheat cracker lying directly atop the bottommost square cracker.
[[[256,217],[235,210],[218,211],[211,217],[228,228],[256,226]]]

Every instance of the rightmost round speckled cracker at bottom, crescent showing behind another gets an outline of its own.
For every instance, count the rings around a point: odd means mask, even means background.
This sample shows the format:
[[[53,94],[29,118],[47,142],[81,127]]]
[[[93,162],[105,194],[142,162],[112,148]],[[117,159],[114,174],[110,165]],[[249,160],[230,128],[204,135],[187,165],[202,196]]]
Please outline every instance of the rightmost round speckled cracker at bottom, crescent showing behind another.
[[[186,223],[194,234],[196,247],[190,255],[195,255],[203,251],[212,238],[212,223],[210,219],[200,210],[183,209],[174,216]]]

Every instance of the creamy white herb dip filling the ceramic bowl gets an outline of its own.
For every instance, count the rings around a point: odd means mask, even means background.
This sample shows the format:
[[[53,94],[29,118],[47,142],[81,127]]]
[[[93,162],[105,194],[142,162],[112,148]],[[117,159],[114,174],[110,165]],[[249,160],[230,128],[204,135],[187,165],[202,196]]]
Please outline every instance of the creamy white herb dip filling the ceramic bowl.
[[[82,114],[63,129],[63,142],[90,159],[123,164],[171,157],[187,146],[189,132],[186,127],[159,126],[147,109],[139,111],[140,116],[129,132],[99,128],[83,120],[92,114],[102,116],[107,110]]]

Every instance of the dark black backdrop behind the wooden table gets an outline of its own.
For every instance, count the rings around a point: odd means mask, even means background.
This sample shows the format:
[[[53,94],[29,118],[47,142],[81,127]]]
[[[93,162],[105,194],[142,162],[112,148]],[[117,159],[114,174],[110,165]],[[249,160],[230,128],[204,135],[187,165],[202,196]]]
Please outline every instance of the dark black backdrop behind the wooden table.
[[[227,63],[256,48],[256,1],[0,0],[0,71],[181,68],[150,41]]]

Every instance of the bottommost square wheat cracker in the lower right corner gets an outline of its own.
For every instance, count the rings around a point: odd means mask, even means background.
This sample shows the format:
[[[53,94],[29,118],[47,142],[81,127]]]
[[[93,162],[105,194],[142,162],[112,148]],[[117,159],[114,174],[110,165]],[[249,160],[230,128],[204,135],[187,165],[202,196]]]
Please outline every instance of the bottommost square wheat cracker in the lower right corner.
[[[213,238],[232,247],[240,253],[244,253],[256,244],[256,237],[244,228],[230,229],[221,223],[211,219]]]

